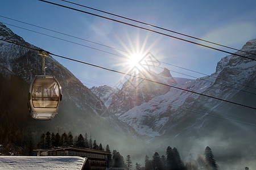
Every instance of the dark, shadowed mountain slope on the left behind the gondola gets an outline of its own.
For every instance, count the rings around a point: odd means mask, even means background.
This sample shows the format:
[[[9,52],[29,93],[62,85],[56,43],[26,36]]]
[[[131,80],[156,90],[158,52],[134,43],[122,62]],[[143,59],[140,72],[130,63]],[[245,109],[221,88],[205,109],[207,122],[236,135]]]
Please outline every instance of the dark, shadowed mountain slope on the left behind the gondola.
[[[39,49],[15,35],[0,23],[0,39]],[[117,144],[115,137],[139,135],[125,122],[109,113],[105,103],[85,87],[54,58],[46,59],[49,75],[55,75],[63,92],[58,114],[51,121],[34,121],[27,109],[28,87],[35,75],[42,74],[42,58],[36,50],[0,41],[0,118],[3,124],[26,125],[33,133],[43,131],[92,133],[98,141]],[[2,126],[0,124],[0,128]],[[112,134],[112,135],[109,135]],[[132,139],[132,138],[130,138]],[[129,140],[128,140],[129,141]],[[114,145],[115,145],[114,144]],[[128,144],[127,144],[128,145]]]

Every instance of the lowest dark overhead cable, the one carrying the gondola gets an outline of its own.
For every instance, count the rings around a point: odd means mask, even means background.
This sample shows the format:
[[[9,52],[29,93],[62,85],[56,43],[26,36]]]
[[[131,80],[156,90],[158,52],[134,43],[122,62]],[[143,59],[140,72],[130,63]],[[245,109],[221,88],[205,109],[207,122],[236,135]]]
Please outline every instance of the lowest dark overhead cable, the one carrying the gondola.
[[[7,40],[3,40],[3,39],[0,39],[2,41],[6,41],[6,42],[9,42],[11,44],[15,44],[15,45],[19,45],[19,46],[23,46],[24,48],[29,48],[29,49],[32,49],[32,50],[37,50],[37,51],[44,51],[42,49],[35,49],[35,48],[31,48],[29,46],[26,46],[26,45],[21,45],[21,44],[18,44],[18,43],[15,43],[15,42],[11,42],[11,41],[7,41]],[[161,83],[161,82],[156,82],[155,80],[151,80],[151,79],[147,79],[147,78],[142,78],[142,77],[139,77],[139,76],[136,76],[136,75],[131,75],[131,74],[127,74],[127,73],[123,73],[122,71],[117,71],[117,70],[113,70],[113,69],[108,69],[106,67],[102,67],[102,66],[98,66],[98,65],[94,65],[92,63],[88,63],[88,62],[83,62],[83,61],[79,61],[77,59],[72,59],[72,58],[68,58],[68,57],[64,57],[64,56],[60,56],[60,55],[57,55],[57,54],[53,54],[51,52],[47,52],[49,54],[51,54],[52,56],[56,56],[56,57],[60,57],[60,58],[64,58],[64,59],[68,59],[68,60],[71,60],[71,61],[75,61],[75,62],[79,62],[79,63],[83,63],[85,65],[89,65],[89,66],[93,66],[93,67],[97,67],[97,68],[100,68],[100,69],[103,69],[103,70],[108,70],[108,71],[112,71],[114,73],[119,73],[119,74],[123,74],[123,75],[129,75],[131,77],[134,77],[134,78],[138,78],[138,79],[141,79],[141,80],[147,80],[148,82],[152,82],[152,83],[156,83],[156,84],[162,84],[163,86],[167,86],[167,87],[172,87],[172,88],[175,88],[177,90],[183,90],[183,91],[187,91],[187,92],[191,92],[193,94],[197,94],[197,95],[201,95],[201,96],[205,96],[205,97],[209,97],[209,98],[212,98],[212,99],[216,99],[216,100],[220,100],[220,101],[225,101],[226,103],[231,103],[231,104],[234,104],[234,105],[240,105],[242,107],[246,107],[246,108],[250,108],[250,109],[255,109],[255,107],[251,107],[249,105],[244,105],[244,104],[240,104],[240,103],[236,103],[236,102],[233,102],[233,101],[229,101],[229,100],[225,100],[225,99],[220,99],[218,97],[213,97],[213,96],[209,96],[209,95],[205,95],[205,94],[201,94],[199,92],[195,92],[195,91],[191,91],[191,90],[187,90],[187,89],[184,89],[184,88],[180,88],[180,87],[175,87],[175,86],[171,86],[169,84],[165,84],[165,83]]]

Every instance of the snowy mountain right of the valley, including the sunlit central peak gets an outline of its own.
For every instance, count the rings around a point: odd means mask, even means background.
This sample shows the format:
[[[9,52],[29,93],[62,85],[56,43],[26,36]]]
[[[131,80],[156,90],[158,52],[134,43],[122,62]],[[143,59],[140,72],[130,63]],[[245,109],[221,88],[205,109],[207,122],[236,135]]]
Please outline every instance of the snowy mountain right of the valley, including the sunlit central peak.
[[[241,50],[253,54],[236,54],[255,59],[256,39],[246,42]],[[177,84],[163,74],[152,73],[149,78],[256,108],[255,73],[256,61],[229,55],[217,63],[210,76]],[[168,74],[170,71],[164,69],[164,75]],[[154,148],[165,152],[164,147],[175,146],[185,151],[181,152],[185,157],[189,153],[203,154],[201,150],[210,146],[223,167],[233,162],[245,164],[243,159],[255,162],[256,154],[248,156],[256,147],[255,109],[132,79],[112,94],[109,110],[143,136],[148,151]]]

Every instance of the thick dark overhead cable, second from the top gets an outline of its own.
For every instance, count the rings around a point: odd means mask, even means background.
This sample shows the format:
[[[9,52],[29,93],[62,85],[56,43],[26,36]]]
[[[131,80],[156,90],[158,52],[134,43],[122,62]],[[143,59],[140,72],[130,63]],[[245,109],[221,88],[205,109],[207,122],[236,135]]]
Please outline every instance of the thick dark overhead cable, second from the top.
[[[93,16],[100,17],[100,18],[104,18],[104,19],[112,20],[112,21],[114,21],[114,22],[118,22],[118,23],[122,23],[122,24],[126,24],[126,25],[130,25],[131,27],[144,29],[144,30],[146,30],[146,31],[150,31],[150,32],[158,33],[158,34],[160,34],[160,35],[167,36],[167,37],[171,37],[171,38],[174,38],[174,39],[177,39],[177,40],[181,40],[181,41],[189,42],[189,43],[192,43],[192,44],[196,44],[196,45],[204,46],[205,48],[210,48],[210,49],[217,50],[217,51],[220,51],[220,52],[224,52],[224,53],[232,54],[232,55],[234,55],[234,56],[238,56],[238,57],[242,57],[242,58],[247,58],[247,59],[251,59],[251,60],[253,60],[253,61],[256,61],[256,59],[254,59],[254,58],[250,58],[250,57],[242,56],[242,55],[240,55],[240,54],[236,54],[236,53],[231,53],[231,52],[228,52],[228,51],[226,51],[226,50],[221,50],[221,49],[213,48],[212,46],[208,46],[208,45],[200,44],[200,43],[197,43],[197,42],[193,42],[193,41],[189,41],[189,40],[181,39],[181,38],[179,38],[179,37],[171,36],[171,35],[168,35],[168,34],[166,34],[166,33],[158,32],[158,31],[154,31],[154,30],[152,30],[152,29],[148,29],[148,28],[144,28],[144,27],[139,27],[138,25],[134,25],[134,24],[130,24],[130,23],[126,23],[126,22],[122,22],[122,21],[120,21],[120,20],[116,20],[116,19],[108,18],[108,17],[105,17],[105,16],[97,15],[97,14],[93,14],[93,13],[91,13],[91,12],[82,11],[82,10],[79,10],[79,9],[76,9],[76,8],[72,8],[72,7],[68,7],[68,6],[64,6],[64,5],[60,5],[60,4],[57,4],[57,3],[48,2],[48,1],[44,1],[44,0],[38,0],[38,1],[46,2],[46,3],[49,3],[49,4],[51,4],[51,5],[56,5],[56,6],[60,6],[60,7],[64,7],[64,8],[68,8],[68,9],[70,9],[70,10],[75,10],[75,11],[83,12],[83,13],[85,13],[85,14],[89,14],[89,15],[93,15]]]

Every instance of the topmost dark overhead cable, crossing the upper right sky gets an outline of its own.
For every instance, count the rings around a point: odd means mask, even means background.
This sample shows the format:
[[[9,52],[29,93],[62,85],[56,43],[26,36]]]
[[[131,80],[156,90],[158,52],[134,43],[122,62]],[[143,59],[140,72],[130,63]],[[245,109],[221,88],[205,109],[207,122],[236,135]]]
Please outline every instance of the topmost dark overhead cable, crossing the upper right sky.
[[[60,1],[64,1],[64,2],[67,2],[67,3],[71,3],[71,4],[73,4],[73,5],[77,5],[77,6],[81,6],[81,7],[85,7],[85,8],[89,8],[89,9],[91,9],[91,10],[95,10],[95,11],[103,12],[103,13],[105,13],[105,14],[109,14],[109,15],[117,16],[117,17],[122,18],[122,19],[131,20],[131,21],[133,21],[133,22],[137,22],[137,23],[140,23],[140,24],[148,25],[148,26],[150,26],[150,27],[159,28],[159,29],[162,29],[162,30],[164,30],[164,31],[168,31],[168,32],[176,33],[176,34],[178,34],[178,35],[186,36],[186,37],[189,37],[189,38],[192,38],[192,39],[196,39],[196,40],[200,40],[200,41],[208,42],[208,43],[210,43],[210,44],[214,44],[214,45],[222,46],[222,47],[225,47],[225,48],[229,48],[229,49],[237,50],[237,51],[240,51],[240,52],[243,52],[243,53],[247,53],[247,54],[253,54],[253,55],[255,55],[255,56],[256,56],[256,54],[254,54],[254,53],[245,52],[245,51],[243,51],[243,50],[239,50],[239,49],[232,48],[232,47],[229,47],[229,46],[225,46],[225,45],[217,44],[216,42],[211,42],[211,41],[207,41],[207,40],[199,39],[199,38],[197,38],[197,37],[193,37],[193,36],[185,35],[184,33],[176,32],[176,31],[172,31],[172,30],[170,30],[170,29],[166,29],[166,28],[163,28],[163,27],[158,27],[158,26],[156,26],[156,25],[152,25],[152,24],[144,23],[144,22],[141,22],[141,21],[138,21],[138,20],[135,20],[135,19],[130,19],[130,18],[127,18],[127,17],[125,17],[125,16],[116,15],[116,14],[113,14],[113,13],[110,13],[110,12],[106,12],[106,11],[98,10],[98,9],[96,9],[96,8],[92,8],[92,7],[88,7],[88,6],[80,5],[80,4],[78,4],[78,3],[74,3],[74,2],[69,2],[69,1],[65,1],[65,0],[60,0]]]

